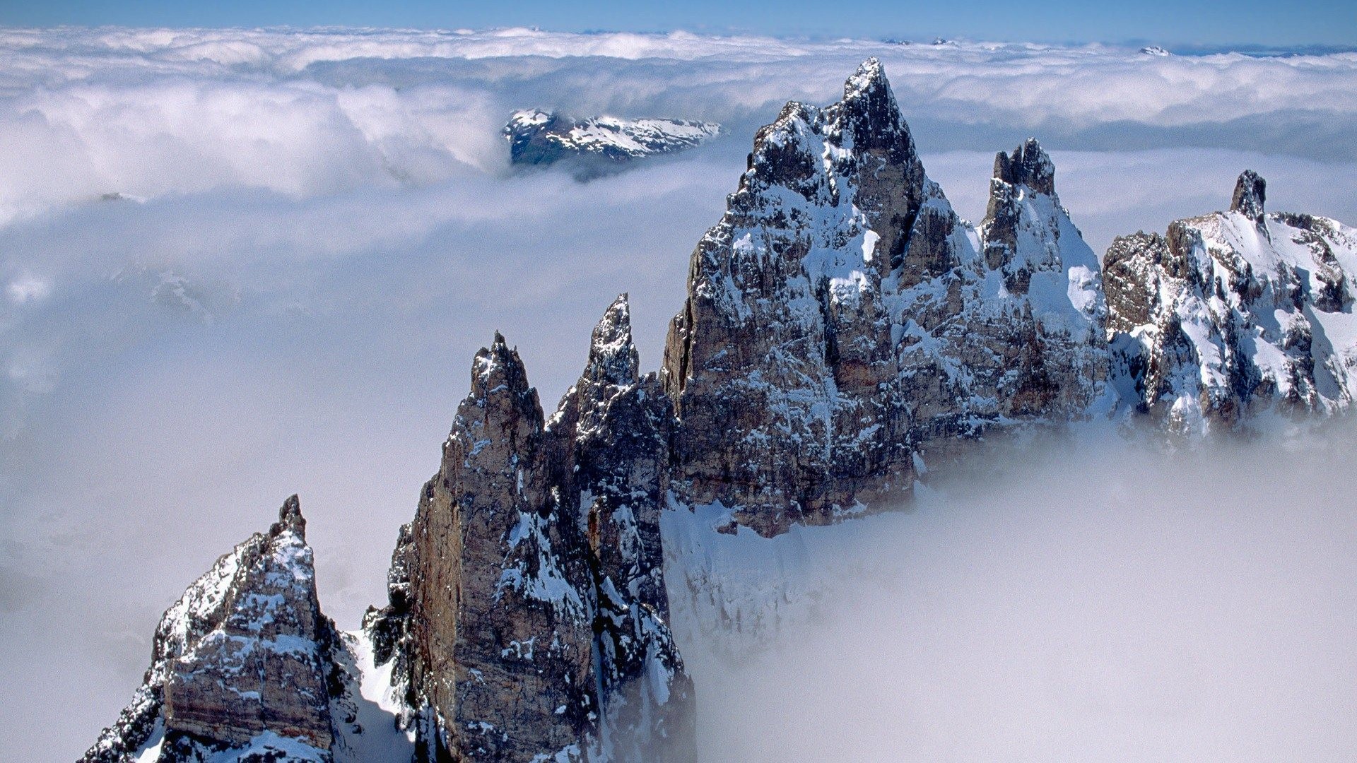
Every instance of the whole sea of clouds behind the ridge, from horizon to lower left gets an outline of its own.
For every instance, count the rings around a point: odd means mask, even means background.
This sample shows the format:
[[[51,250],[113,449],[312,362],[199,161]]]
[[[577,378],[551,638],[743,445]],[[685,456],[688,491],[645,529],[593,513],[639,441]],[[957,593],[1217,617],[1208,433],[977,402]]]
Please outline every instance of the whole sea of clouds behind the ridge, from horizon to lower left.
[[[503,331],[551,409],[626,291],[655,368],[753,130],[867,56],[963,216],[1033,134],[1099,251],[1225,206],[1246,167],[1273,209],[1357,221],[1354,53],[0,30],[0,758],[77,756],[159,614],[290,493],[353,627],[476,348]],[[725,133],[579,183],[510,168],[524,107]]]

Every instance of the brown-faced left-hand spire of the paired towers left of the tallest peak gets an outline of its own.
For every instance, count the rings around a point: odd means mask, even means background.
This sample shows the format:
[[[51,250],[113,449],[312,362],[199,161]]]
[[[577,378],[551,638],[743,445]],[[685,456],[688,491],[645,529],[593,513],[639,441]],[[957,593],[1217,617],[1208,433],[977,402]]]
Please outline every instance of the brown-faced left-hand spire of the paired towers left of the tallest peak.
[[[402,561],[408,680],[440,758],[531,760],[578,745],[597,715],[588,569],[547,468],[537,391],[495,335]]]

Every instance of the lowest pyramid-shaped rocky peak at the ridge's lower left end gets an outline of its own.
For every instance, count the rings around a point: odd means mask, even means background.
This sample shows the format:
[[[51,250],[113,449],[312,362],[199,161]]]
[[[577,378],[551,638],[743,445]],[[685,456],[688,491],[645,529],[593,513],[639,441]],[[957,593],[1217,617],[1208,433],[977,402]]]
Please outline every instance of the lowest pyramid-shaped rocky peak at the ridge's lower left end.
[[[166,611],[151,669],[84,760],[331,760],[341,694],[297,497]],[[342,724],[345,718],[339,718]]]

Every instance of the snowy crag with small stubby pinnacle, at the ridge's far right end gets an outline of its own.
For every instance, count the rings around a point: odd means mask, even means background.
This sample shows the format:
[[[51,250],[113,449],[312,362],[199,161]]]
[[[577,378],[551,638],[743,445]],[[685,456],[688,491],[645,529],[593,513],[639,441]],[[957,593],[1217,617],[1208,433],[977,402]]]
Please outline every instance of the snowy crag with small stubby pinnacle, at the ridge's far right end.
[[[1267,213],[1265,189],[1246,171],[1229,212],[1107,250],[1125,396],[1172,432],[1231,429],[1263,411],[1329,413],[1357,392],[1357,231]]]

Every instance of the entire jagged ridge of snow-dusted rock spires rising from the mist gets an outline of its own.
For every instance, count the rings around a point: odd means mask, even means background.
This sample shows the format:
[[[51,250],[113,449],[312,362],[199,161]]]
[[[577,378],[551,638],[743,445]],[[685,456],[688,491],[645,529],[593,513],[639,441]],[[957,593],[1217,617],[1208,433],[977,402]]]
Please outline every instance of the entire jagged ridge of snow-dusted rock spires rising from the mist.
[[[658,373],[624,296],[550,417],[495,335],[364,631],[320,615],[289,501],[166,614],[87,760],[692,760],[662,515],[702,517],[684,548],[761,542],[741,525],[890,508],[924,459],[987,434],[1350,406],[1357,231],[1267,213],[1265,190],[1244,172],[1228,212],[1117,239],[1101,267],[1027,140],[972,225],[870,60],[841,102],[759,130]],[[719,565],[670,562],[685,611],[740,619]]]

